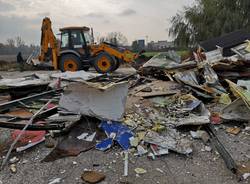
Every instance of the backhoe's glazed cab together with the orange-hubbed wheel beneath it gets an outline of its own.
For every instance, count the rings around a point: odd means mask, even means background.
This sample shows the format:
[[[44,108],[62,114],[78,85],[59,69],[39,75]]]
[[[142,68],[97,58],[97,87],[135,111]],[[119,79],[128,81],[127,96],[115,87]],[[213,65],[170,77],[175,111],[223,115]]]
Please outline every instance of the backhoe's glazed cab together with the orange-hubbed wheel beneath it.
[[[88,70],[92,44],[89,28],[65,27],[60,32],[59,68],[62,71]]]

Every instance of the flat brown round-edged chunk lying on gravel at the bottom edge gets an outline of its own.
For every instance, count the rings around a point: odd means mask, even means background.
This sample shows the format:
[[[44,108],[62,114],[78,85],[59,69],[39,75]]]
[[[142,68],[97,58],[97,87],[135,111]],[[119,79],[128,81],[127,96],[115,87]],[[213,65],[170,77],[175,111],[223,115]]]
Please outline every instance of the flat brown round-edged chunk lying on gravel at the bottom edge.
[[[84,171],[81,178],[88,183],[99,183],[105,179],[105,175],[97,171]]]

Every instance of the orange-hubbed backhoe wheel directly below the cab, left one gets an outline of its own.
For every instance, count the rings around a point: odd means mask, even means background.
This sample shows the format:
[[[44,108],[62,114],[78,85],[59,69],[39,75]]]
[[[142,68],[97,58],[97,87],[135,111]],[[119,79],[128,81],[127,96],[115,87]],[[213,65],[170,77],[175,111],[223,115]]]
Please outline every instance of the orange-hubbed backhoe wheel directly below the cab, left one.
[[[81,61],[77,56],[73,54],[63,55],[60,60],[60,70],[62,72],[75,72],[81,70]]]

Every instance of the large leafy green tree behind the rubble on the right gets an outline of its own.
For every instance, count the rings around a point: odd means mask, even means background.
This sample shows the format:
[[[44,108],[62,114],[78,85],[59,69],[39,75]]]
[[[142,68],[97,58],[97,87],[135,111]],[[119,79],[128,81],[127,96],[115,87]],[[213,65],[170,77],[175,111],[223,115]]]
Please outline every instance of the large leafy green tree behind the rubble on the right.
[[[169,35],[187,47],[238,29],[250,31],[249,10],[249,0],[196,0],[171,18]]]

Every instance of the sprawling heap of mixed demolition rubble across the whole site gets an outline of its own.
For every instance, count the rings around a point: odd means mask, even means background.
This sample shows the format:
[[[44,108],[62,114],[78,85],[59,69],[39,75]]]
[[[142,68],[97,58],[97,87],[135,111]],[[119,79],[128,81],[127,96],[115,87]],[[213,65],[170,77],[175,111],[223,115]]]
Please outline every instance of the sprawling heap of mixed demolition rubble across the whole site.
[[[18,173],[18,154],[32,151],[43,142],[52,148],[47,156],[39,158],[42,163],[57,163],[58,159],[77,157],[93,149],[103,155],[125,155],[121,177],[134,172],[140,177],[150,172],[142,165],[131,168],[134,158],[147,158],[148,162],[170,155],[189,158],[195,156],[195,144],[199,142],[202,149],[198,152],[216,152],[229,170],[247,180],[249,173],[239,172],[240,163],[220,141],[218,132],[235,137],[244,134],[249,139],[249,47],[249,42],[233,46],[234,54],[227,57],[216,49],[194,53],[195,57],[185,61],[173,51],[160,53],[130,75],[78,71],[3,77],[0,127],[10,132],[0,137],[1,152],[6,153],[20,134],[17,129],[23,129],[49,101],[13,148],[17,156],[8,160],[12,173]],[[17,89],[18,94],[13,93]],[[98,183],[112,176],[91,169],[79,177]]]

